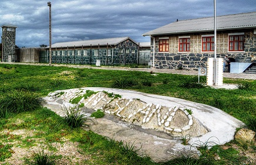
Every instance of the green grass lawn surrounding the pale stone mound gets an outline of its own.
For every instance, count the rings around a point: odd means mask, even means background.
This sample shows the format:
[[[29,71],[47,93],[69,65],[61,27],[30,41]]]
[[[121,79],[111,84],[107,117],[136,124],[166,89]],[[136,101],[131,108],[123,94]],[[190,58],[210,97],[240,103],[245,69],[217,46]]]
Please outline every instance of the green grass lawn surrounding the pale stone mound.
[[[206,77],[202,77],[201,80],[204,82]],[[146,156],[139,157],[132,152],[122,152],[120,142],[114,142],[81,128],[72,128],[54,112],[42,108],[41,104],[34,104],[41,102],[38,98],[46,96],[49,92],[70,88],[115,87],[187,99],[220,108],[247,123],[250,128],[255,128],[255,80],[224,78],[224,83],[238,84],[237,90],[213,89],[198,84],[197,81],[197,76],[191,75],[158,73],[155,76],[139,71],[0,64],[0,101],[3,103],[0,112],[0,132],[6,129],[35,130],[35,133],[26,139],[1,133],[0,144],[5,142],[5,145],[0,145],[0,155],[3,156],[0,161],[11,156],[11,145],[6,143],[12,143],[14,140],[23,143],[21,147],[38,145],[37,140],[30,139],[43,139],[41,143],[50,146],[53,142],[63,143],[62,138],[65,137],[73,142],[79,142],[81,153],[90,154],[92,159],[85,160],[85,164],[161,164],[154,163]],[[113,94],[109,95],[113,97]],[[80,98],[73,100],[79,101]],[[132,142],[126,143],[128,149],[133,147],[129,144]],[[125,143],[123,145],[125,147]],[[255,144],[248,146],[248,149],[255,150]],[[221,160],[217,161],[220,164],[241,163],[244,160],[244,157],[237,156],[234,150],[225,152],[214,147],[211,150],[206,149],[205,157],[201,157],[201,161],[212,159],[214,154],[221,157]],[[184,159],[197,161],[194,157],[181,157],[176,161],[183,162]],[[171,161],[166,163],[170,164]]]

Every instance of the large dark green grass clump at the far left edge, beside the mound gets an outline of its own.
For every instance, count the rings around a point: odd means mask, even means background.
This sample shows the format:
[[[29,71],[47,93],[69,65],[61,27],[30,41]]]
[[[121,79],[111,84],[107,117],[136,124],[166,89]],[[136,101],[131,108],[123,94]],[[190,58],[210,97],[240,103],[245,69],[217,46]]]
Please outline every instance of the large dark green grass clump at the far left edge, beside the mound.
[[[44,100],[33,92],[25,90],[12,90],[0,97],[0,111],[24,112],[40,108]]]

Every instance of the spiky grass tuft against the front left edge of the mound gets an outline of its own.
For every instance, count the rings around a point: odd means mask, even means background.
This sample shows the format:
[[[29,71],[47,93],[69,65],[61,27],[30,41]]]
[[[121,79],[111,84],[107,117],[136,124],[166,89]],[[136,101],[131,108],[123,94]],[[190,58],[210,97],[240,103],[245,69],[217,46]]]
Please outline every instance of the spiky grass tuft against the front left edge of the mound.
[[[85,115],[81,113],[78,106],[66,108],[64,105],[63,108],[61,107],[66,123],[72,128],[78,128],[82,126],[83,123],[86,121]]]

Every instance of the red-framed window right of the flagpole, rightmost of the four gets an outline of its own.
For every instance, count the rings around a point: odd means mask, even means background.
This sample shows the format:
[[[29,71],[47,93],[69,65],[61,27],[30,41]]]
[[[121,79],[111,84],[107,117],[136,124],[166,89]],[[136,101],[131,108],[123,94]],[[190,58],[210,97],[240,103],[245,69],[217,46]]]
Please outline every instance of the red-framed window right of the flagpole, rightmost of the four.
[[[228,51],[244,51],[244,35],[228,36]]]

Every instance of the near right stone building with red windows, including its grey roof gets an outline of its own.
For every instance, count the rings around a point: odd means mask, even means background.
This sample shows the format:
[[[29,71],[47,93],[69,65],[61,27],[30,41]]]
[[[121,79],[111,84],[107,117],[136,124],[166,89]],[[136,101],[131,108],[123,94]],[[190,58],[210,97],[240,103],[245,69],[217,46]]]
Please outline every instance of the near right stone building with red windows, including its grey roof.
[[[151,37],[156,68],[195,70],[214,57],[214,17],[177,20],[144,33]],[[217,57],[252,63],[256,59],[256,12],[217,16]]]

